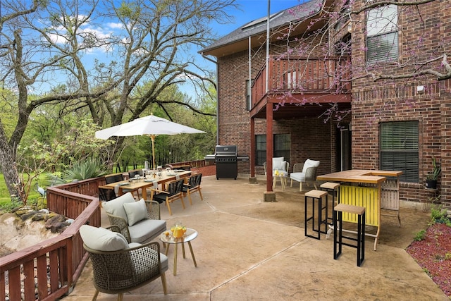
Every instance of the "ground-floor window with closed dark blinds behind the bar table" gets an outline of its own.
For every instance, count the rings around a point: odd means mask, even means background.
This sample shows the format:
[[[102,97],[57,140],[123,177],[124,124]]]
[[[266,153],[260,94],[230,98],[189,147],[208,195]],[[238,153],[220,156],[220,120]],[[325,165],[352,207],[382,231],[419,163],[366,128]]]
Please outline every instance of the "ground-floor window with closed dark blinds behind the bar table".
[[[402,171],[403,182],[419,182],[418,121],[381,123],[381,170]]]

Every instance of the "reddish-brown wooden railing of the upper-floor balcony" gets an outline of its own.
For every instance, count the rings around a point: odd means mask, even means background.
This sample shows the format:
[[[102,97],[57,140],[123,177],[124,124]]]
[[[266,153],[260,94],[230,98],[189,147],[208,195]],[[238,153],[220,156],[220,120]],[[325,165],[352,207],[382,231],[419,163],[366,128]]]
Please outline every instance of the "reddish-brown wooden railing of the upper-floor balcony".
[[[269,68],[261,68],[252,85],[252,106],[266,95],[266,72],[268,93],[283,92],[348,93],[351,88],[351,61],[347,56],[327,59],[289,56],[270,56]]]

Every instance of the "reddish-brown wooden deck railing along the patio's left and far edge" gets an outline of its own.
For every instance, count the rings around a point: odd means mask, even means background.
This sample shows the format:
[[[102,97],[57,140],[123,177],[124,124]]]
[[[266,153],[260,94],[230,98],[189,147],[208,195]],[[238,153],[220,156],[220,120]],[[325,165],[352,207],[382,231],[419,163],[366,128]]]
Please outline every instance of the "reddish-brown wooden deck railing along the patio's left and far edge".
[[[47,188],[49,210],[75,221],[61,235],[0,258],[0,300],[56,300],[70,293],[88,259],[78,231],[85,223],[101,226],[98,191],[104,183],[101,177]]]

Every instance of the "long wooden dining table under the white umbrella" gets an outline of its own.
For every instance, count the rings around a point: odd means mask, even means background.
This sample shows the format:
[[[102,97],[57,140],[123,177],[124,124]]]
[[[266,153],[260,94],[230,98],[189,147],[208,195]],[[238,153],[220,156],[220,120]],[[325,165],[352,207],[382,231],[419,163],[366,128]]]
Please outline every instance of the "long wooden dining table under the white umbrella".
[[[171,171],[162,171],[161,176],[150,176],[150,178],[141,177],[139,179],[128,179],[121,180],[119,182],[109,183],[103,185],[104,187],[111,187],[112,189],[118,188],[118,195],[123,195],[123,190],[127,191],[135,191],[142,190],[142,198],[147,199],[147,188],[158,188],[161,185],[160,190],[164,190],[164,186],[167,182],[171,180],[175,180],[177,178],[185,178],[190,176],[191,171],[180,170],[171,170]]]

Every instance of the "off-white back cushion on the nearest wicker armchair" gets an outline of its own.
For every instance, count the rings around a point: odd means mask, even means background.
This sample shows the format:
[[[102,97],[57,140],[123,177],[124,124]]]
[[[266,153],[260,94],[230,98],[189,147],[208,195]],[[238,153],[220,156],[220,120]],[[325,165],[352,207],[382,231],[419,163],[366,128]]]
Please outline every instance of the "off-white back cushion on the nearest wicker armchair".
[[[80,227],[80,236],[85,245],[92,250],[118,251],[128,248],[128,242],[121,233],[106,228],[83,225]]]

